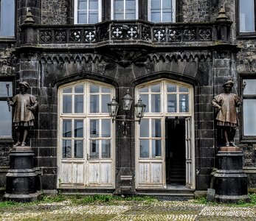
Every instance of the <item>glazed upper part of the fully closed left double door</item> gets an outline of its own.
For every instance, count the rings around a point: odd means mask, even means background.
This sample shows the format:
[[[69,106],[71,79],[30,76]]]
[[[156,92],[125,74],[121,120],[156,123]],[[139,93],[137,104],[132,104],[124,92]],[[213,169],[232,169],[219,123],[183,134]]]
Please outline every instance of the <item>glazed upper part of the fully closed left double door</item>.
[[[110,86],[91,81],[60,89],[62,158],[111,158],[114,132],[107,103],[113,93]]]

